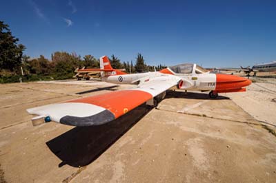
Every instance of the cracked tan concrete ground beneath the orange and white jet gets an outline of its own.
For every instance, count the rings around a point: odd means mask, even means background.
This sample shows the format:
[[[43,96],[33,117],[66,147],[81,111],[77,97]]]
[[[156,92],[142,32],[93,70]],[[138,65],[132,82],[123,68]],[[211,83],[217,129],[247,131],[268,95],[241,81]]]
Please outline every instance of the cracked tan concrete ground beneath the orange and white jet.
[[[247,93],[210,100],[169,92],[158,109],[142,105],[97,128],[32,127],[29,107],[110,92],[77,95],[111,86],[82,83],[1,85],[0,164],[7,182],[276,182],[276,137],[242,109],[254,102],[236,105]],[[130,86],[117,89],[124,87]]]

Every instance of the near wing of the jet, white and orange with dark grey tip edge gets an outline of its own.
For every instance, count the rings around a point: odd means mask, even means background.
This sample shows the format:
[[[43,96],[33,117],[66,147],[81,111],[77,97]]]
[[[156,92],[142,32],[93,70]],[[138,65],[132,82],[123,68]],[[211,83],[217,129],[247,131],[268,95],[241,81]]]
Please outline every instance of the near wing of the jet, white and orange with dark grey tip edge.
[[[33,125],[38,120],[55,121],[73,126],[102,125],[174,87],[179,80],[177,76],[159,76],[134,89],[77,98],[64,103],[34,107],[27,111],[29,114],[37,115],[32,118]]]

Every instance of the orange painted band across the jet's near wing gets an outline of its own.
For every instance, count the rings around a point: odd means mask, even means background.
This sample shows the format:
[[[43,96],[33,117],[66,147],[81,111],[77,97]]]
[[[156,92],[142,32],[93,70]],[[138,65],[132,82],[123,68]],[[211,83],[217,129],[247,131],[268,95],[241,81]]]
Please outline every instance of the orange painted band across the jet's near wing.
[[[97,96],[79,98],[70,100],[68,103],[88,103],[108,109],[114,114],[115,118],[119,118],[126,112],[150,100],[152,95],[148,92],[139,90],[120,90],[116,92],[108,92]]]

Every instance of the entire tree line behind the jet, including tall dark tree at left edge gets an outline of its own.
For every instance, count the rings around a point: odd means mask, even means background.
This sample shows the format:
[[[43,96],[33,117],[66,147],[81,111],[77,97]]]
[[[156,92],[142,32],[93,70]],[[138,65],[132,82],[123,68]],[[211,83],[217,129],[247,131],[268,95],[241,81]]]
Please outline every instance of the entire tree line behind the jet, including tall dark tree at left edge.
[[[0,21],[0,83],[19,81],[22,72],[25,80],[45,78],[65,79],[72,78],[76,68],[99,68],[99,59],[92,55],[79,56],[75,52],[54,52],[49,61],[43,55],[39,58],[30,58],[23,55],[26,49],[18,44],[19,39],[12,36],[7,24]],[[121,62],[114,54],[109,58],[115,69],[126,69],[128,73],[154,71],[155,67],[146,65],[141,54],[137,54],[135,65],[132,61]],[[157,70],[165,66],[158,65]],[[9,78],[15,77],[14,80]]]

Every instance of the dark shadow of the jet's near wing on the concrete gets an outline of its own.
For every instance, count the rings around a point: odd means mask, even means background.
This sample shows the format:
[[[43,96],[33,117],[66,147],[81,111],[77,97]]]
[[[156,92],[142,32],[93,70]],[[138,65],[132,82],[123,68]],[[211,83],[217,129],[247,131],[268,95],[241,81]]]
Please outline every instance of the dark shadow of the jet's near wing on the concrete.
[[[59,167],[64,164],[74,167],[86,166],[96,160],[151,109],[152,107],[146,104],[140,105],[117,120],[99,126],[75,127],[46,144],[62,161]]]

